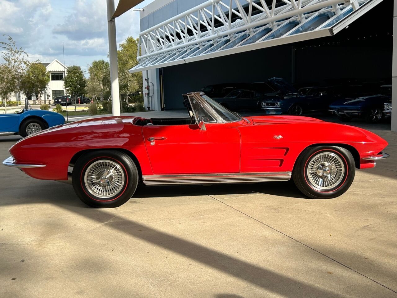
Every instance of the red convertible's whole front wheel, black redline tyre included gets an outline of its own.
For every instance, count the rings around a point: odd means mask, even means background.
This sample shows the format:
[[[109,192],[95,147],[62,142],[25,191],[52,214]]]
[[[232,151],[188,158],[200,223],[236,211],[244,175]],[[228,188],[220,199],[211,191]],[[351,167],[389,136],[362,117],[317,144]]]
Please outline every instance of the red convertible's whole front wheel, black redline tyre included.
[[[338,197],[355,176],[353,155],[337,146],[309,147],[299,155],[292,172],[297,188],[313,199]]]

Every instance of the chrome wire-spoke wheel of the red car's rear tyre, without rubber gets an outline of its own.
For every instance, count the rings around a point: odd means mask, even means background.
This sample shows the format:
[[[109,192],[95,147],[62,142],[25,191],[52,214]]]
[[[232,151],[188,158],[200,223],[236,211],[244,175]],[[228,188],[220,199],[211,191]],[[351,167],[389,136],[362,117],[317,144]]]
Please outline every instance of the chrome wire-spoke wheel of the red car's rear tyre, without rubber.
[[[85,170],[84,183],[87,190],[98,199],[109,199],[123,189],[125,174],[120,164],[101,159]]]

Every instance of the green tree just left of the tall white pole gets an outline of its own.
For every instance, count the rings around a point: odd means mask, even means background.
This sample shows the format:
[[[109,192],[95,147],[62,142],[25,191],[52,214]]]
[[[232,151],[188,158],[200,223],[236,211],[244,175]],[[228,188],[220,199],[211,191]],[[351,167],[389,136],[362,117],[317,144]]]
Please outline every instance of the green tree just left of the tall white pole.
[[[104,100],[105,94],[110,90],[110,65],[105,60],[95,60],[88,66],[89,78],[87,92],[89,96]]]

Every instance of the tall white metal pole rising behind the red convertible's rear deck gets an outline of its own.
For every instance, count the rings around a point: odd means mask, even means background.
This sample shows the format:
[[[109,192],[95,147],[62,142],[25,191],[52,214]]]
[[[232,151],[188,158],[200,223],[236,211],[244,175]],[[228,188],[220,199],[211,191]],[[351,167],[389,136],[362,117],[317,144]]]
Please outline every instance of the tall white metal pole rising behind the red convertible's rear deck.
[[[114,0],[107,0],[106,4],[108,8],[108,39],[109,39],[109,58],[110,58],[110,85],[112,89],[112,111],[113,111],[113,116],[120,116],[116,20],[112,19],[112,15],[114,14]]]

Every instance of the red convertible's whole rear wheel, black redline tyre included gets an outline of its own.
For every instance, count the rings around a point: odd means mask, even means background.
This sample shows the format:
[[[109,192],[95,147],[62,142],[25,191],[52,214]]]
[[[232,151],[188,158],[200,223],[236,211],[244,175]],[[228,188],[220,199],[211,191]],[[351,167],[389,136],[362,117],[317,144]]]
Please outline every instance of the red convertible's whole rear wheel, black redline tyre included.
[[[135,193],[138,178],[135,163],[118,150],[86,153],[77,160],[72,172],[76,194],[94,208],[123,205]]]

